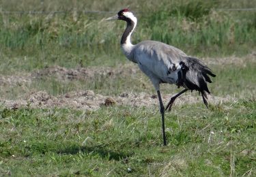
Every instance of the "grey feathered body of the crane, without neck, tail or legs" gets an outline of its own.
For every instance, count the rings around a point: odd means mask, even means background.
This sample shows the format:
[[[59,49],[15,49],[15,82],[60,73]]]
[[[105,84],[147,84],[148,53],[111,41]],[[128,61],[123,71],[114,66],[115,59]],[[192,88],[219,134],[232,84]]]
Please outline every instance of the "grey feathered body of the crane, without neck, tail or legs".
[[[149,76],[158,90],[160,83],[176,83],[177,72],[180,71],[177,66],[186,54],[162,42],[143,41],[134,45],[132,56],[133,61],[137,62],[141,71]]]

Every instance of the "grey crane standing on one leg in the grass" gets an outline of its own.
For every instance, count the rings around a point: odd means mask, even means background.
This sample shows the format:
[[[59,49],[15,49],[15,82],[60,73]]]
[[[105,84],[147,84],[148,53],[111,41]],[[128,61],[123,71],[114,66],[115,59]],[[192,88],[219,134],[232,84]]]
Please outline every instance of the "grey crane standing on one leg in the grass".
[[[207,82],[212,82],[208,75],[212,77],[216,75],[199,59],[189,57],[182,50],[162,42],[147,40],[133,45],[130,42],[130,36],[137,25],[137,18],[128,9],[120,10],[115,16],[105,20],[124,20],[127,23],[121,39],[121,48],[125,56],[130,61],[138,64],[141,71],[150,78],[154,88],[156,88],[162,116],[163,144],[166,146],[165,110],[168,109],[170,111],[175,99],[188,90],[199,91],[203,98],[203,103],[208,108],[206,93],[210,94],[210,91]],[[161,83],[176,84],[178,87],[184,87],[184,90],[171,97],[166,108],[160,95]]]

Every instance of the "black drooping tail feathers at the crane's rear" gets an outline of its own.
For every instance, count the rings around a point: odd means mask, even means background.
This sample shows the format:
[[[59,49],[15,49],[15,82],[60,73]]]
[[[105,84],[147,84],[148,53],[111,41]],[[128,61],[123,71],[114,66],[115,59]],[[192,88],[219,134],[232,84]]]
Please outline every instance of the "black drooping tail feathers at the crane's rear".
[[[207,95],[205,92],[210,93],[207,82],[212,83],[212,80],[208,75],[212,77],[215,77],[216,75],[213,74],[212,70],[203,62],[193,57],[186,57],[186,59],[181,62],[181,65],[183,65],[182,75],[186,76],[183,77],[184,86],[191,91],[199,91],[203,97],[203,103],[208,107],[208,102],[206,100]]]

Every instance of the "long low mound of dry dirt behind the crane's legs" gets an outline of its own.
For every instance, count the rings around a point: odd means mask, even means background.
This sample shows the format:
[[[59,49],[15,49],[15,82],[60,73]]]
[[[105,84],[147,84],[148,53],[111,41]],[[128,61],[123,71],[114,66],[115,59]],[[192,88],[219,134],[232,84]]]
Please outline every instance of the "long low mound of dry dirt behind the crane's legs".
[[[168,103],[171,95],[162,95],[165,103]],[[235,101],[231,97],[221,98],[209,95],[209,102],[218,104],[225,101]],[[181,106],[184,103],[202,102],[201,97],[191,96],[189,93],[179,97],[174,105]],[[94,91],[79,91],[66,93],[54,97],[45,91],[31,93],[27,99],[19,100],[0,100],[1,105],[6,108],[17,109],[20,107],[30,108],[74,108],[81,110],[97,110],[101,106],[134,106],[134,107],[158,107],[158,98],[156,95],[147,93],[122,93],[117,97],[109,97],[94,93]]]

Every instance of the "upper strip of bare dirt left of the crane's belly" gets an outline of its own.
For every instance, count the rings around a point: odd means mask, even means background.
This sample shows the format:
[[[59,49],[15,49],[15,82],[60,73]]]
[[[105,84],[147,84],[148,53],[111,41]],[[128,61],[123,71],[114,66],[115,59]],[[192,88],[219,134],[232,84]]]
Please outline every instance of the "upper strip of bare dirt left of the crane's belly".
[[[66,67],[51,66],[44,69],[32,71],[31,73],[16,73],[14,75],[0,75],[0,86],[14,86],[31,83],[47,77],[54,77],[58,80],[87,80],[96,76],[115,77],[119,74],[132,76],[139,72],[139,68],[134,64],[120,65],[118,67],[79,67],[68,69]]]

